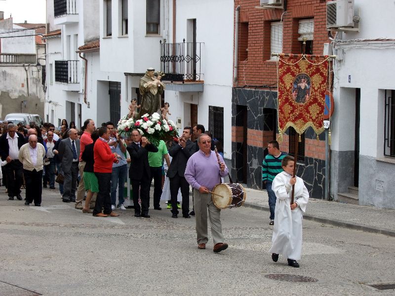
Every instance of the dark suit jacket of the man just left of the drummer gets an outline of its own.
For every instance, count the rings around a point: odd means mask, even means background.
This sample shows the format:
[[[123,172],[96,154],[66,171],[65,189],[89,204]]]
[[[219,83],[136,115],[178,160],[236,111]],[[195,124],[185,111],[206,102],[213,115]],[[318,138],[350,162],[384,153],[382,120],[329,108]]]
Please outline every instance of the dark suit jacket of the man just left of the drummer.
[[[185,148],[182,148],[178,142],[171,143],[169,155],[172,159],[166,176],[173,178],[178,173],[180,177],[184,177],[188,159],[194,154],[194,151],[195,144],[191,140],[186,142]]]

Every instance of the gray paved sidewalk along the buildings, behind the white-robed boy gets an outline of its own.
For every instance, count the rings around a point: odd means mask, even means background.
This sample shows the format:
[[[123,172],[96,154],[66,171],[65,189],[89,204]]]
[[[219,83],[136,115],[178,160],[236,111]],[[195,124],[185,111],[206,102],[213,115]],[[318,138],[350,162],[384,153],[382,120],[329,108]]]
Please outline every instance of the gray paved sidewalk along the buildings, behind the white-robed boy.
[[[250,188],[245,190],[247,195],[244,206],[270,211],[266,191]],[[269,218],[269,214],[266,216]],[[395,236],[395,210],[390,209],[311,198],[303,218],[338,227]]]

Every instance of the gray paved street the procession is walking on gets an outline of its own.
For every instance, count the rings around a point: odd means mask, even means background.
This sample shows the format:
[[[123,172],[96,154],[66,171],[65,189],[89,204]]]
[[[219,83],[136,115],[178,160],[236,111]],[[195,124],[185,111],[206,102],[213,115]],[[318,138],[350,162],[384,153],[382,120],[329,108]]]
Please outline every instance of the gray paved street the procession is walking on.
[[[281,257],[272,261],[272,226],[257,209],[221,212],[230,246],[215,254],[212,240],[197,250],[194,217],[172,219],[164,209],[143,219],[128,209],[118,218],[94,218],[62,203],[57,190],[43,189],[40,208],[8,201],[4,187],[0,192],[0,281],[45,296],[395,293],[367,286],[395,282],[395,237],[305,219],[298,269]],[[276,273],[318,281],[265,278]]]

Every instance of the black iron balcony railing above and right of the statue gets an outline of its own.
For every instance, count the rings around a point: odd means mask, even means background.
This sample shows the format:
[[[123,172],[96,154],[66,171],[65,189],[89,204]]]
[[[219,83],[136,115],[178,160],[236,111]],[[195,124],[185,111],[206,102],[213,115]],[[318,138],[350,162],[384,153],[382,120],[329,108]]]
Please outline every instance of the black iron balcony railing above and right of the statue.
[[[162,43],[160,41],[160,71],[163,81],[202,82],[202,42]]]

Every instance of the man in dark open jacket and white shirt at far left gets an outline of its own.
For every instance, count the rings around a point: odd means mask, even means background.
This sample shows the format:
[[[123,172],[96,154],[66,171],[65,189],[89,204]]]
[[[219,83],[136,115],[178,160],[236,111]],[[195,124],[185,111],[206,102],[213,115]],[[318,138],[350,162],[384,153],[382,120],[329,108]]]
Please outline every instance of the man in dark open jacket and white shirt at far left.
[[[4,173],[7,180],[8,199],[13,200],[14,196],[22,200],[20,188],[23,183],[23,165],[19,161],[19,149],[26,144],[22,134],[16,131],[14,123],[8,123],[8,132],[0,137],[0,156],[7,161],[4,166]]]

